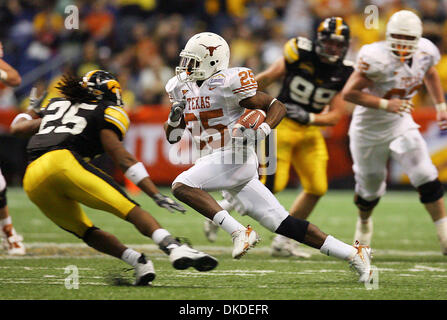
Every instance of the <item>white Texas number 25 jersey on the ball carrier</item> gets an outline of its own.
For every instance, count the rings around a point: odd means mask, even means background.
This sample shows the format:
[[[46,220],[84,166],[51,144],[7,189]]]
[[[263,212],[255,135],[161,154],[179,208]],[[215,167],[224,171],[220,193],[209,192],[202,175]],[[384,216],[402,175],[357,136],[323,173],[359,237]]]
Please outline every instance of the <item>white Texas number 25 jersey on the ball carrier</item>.
[[[214,74],[200,87],[196,82],[185,83],[173,77],[165,89],[171,102],[186,100],[186,128],[203,156],[207,154],[204,149],[213,152],[227,145],[232,127],[245,111],[239,102],[254,96],[257,88],[253,72],[239,67]]]

